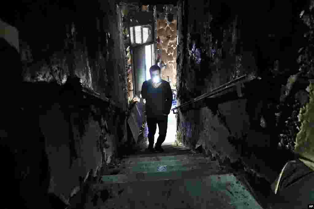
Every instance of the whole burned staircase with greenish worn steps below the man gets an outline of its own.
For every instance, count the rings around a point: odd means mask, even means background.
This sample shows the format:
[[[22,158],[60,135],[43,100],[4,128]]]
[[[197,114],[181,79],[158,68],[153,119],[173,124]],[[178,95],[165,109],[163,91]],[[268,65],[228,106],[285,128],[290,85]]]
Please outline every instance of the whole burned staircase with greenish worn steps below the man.
[[[262,208],[240,172],[180,144],[163,148],[127,156],[116,175],[103,175],[94,189],[110,198],[89,208]]]

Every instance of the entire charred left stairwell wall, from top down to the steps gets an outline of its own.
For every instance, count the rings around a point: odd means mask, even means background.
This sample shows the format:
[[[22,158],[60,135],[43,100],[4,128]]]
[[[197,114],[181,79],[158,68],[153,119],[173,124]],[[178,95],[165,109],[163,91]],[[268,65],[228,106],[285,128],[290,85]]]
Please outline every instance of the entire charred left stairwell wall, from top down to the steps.
[[[16,165],[12,181],[14,188],[20,187],[15,193],[22,198],[22,207],[65,208],[70,196],[83,191],[85,177],[99,178],[100,167],[114,160],[117,147],[127,138],[121,17],[114,1],[47,0],[12,8],[16,13],[1,13],[1,19],[18,30],[23,67],[18,65],[19,54],[9,58],[6,54],[5,64],[16,61],[4,75],[12,79],[12,86],[24,82],[14,86],[19,93],[7,91],[4,97],[9,101],[18,94],[20,102],[19,107],[8,102],[2,108],[8,123],[1,123],[5,125],[1,138],[6,138],[1,148],[9,148]],[[23,79],[15,77],[21,74]],[[113,102],[108,106],[83,93],[81,85]],[[21,131],[7,114],[11,111],[14,118],[19,114],[23,118]]]

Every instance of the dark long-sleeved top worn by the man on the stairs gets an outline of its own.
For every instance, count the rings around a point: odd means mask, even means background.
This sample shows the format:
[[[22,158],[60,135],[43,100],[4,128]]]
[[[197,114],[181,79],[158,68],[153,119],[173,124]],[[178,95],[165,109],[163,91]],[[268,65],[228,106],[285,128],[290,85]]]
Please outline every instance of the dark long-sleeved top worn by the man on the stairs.
[[[172,91],[169,82],[161,80],[160,86],[153,87],[152,79],[143,82],[142,97],[146,99],[146,115],[148,118],[159,117],[170,113]]]

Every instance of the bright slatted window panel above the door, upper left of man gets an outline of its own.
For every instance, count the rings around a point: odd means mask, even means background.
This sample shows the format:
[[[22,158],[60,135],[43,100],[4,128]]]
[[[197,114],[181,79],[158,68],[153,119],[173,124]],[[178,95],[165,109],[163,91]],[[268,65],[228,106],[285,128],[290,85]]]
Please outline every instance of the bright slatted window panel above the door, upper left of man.
[[[138,25],[130,27],[130,37],[132,45],[139,45],[151,42],[152,26],[151,25]]]

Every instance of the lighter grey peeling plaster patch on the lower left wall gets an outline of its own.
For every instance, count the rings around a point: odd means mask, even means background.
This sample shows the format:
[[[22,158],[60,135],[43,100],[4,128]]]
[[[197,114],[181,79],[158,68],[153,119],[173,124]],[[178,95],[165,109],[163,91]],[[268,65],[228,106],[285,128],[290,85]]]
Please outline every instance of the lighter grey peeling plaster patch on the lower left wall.
[[[81,186],[80,178],[100,175],[116,151],[114,130],[106,131],[110,112],[101,114],[99,107],[75,109],[66,112],[55,103],[39,118],[51,169],[48,192],[68,203],[71,193]]]

